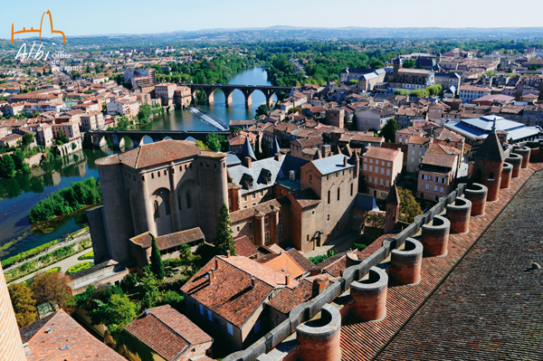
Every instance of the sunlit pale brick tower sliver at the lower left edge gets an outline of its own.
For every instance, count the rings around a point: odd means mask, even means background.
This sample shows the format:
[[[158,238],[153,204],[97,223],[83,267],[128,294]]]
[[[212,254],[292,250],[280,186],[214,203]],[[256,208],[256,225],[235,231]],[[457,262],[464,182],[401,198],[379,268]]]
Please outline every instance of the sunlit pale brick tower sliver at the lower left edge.
[[[26,361],[2,266],[0,266],[0,360]]]

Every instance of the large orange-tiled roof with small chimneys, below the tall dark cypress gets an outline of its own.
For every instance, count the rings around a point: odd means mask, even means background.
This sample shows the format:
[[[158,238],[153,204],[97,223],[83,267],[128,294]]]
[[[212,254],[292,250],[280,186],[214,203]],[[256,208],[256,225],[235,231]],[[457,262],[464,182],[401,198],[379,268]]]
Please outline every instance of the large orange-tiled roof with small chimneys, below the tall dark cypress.
[[[209,284],[207,272],[215,267],[214,280]],[[252,288],[251,279],[255,278]],[[181,290],[206,309],[226,319],[237,328],[252,316],[262,303],[266,302],[271,291],[285,287],[285,276],[282,272],[270,268],[242,256],[214,257],[198,271]],[[298,286],[297,280],[291,280],[290,288]]]

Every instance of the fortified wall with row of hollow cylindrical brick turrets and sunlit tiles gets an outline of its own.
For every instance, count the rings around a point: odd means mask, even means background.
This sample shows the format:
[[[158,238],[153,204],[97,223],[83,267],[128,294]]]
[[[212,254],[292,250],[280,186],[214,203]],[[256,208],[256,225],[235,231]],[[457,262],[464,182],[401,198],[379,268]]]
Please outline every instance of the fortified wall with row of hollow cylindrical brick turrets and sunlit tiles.
[[[491,187],[498,185],[492,195],[496,201],[487,200],[486,185],[458,185],[401,233],[378,239],[385,238],[364,260],[359,261],[356,252],[348,253],[348,268],[337,282],[224,361],[338,361],[378,355],[534,173],[527,168],[530,157],[543,159],[543,140],[511,147],[505,156],[500,175],[485,180]],[[374,249],[376,242],[365,251]],[[423,290],[415,289],[419,283]],[[407,309],[409,315],[396,317],[397,309]],[[348,333],[347,341],[342,332]]]

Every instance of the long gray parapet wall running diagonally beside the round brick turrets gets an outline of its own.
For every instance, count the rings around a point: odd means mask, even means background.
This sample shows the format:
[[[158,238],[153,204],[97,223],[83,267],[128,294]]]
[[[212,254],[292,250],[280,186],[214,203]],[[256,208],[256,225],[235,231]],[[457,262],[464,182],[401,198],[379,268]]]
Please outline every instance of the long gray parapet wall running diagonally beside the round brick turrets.
[[[440,198],[439,202],[425,214],[417,215],[414,218],[414,223],[409,224],[404,231],[395,236],[387,237],[381,248],[367,257],[366,260],[348,267],[343,272],[341,279],[334,282],[329,288],[320,293],[319,296],[310,299],[308,302],[300,303],[300,305],[291,310],[290,317],[285,319],[279,326],[259,338],[250,347],[224,357],[224,361],[255,361],[262,354],[270,352],[285,338],[290,337],[296,332],[296,328],[300,324],[315,317],[325,305],[348,290],[353,281],[360,280],[370,271],[371,267],[385,261],[390,252],[401,247],[407,238],[413,237],[421,230],[424,224],[430,223],[433,217],[441,214],[448,204],[454,203],[455,199],[464,193],[465,189],[466,184],[462,183],[458,185],[449,195]]]

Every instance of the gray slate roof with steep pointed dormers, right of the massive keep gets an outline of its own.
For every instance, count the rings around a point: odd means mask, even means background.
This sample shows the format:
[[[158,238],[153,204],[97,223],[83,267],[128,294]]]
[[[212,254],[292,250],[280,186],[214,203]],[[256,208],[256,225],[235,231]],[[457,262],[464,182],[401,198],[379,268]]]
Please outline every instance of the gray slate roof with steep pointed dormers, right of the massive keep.
[[[274,185],[278,179],[289,178],[289,171],[297,171],[300,166],[308,163],[305,159],[292,157],[290,155],[276,160],[275,157],[265,158],[253,161],[250,168],[246,166],[232,166],[228,168],[228,173],[236,185],[242,185],[241,193],[251,193]],[[266,183],[266,177],[270,182]],[[252,182],[252,188],[249,189],[247,183]]]

